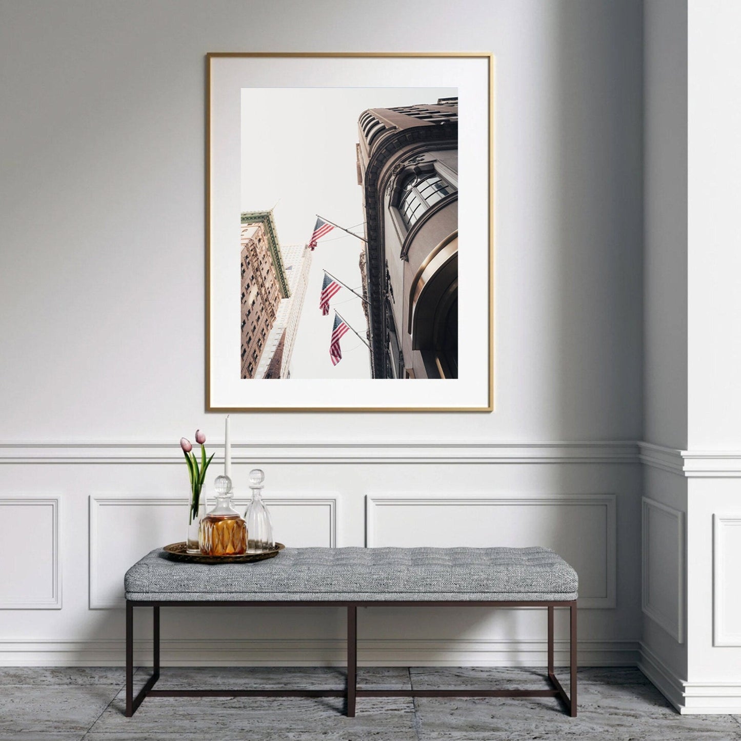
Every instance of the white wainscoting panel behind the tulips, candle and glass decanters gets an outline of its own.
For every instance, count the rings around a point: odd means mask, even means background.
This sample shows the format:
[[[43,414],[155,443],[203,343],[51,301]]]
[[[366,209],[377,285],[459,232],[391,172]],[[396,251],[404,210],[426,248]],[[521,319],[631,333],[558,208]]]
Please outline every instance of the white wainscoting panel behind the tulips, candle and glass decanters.
[[[244,513],[248,502],[239,498],[234,504]],[[336,544],[336,496],[270,496],[265,504],[279,542],[295,547]],[[127,569],[153,548],[185,540],[186,528],[183,496],[90,496],[90,609],[124,607]]]

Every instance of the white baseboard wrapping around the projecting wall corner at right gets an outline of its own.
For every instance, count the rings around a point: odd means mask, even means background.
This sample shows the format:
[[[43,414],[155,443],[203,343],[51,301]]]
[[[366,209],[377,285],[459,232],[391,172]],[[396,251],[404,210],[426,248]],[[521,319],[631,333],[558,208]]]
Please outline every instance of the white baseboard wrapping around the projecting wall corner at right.
[[[644,643],[638,668],[682,715],[741,714],[741,682],[688,682]]]

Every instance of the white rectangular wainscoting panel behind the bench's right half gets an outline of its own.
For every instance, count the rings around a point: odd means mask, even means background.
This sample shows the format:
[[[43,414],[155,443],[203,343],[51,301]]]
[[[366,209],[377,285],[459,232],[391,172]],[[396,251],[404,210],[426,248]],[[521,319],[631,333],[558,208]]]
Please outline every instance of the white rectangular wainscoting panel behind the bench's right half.
[[[579,574],[579,607],[616,605],[614,494],[366,497],[366,545],[552,548]]]

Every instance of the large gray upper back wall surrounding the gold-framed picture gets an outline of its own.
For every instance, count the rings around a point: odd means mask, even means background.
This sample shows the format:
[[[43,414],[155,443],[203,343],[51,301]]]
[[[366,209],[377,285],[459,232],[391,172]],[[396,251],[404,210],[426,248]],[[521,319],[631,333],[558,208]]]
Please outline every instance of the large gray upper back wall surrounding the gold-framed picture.
[[[233,438],[639,437],[641,4],[422,7],[2,1],[4,439],[220,430],[193,353],[204,54],[363,49],[496,54],[496,412],[236,416]]]

